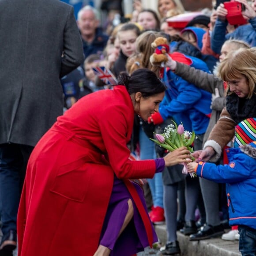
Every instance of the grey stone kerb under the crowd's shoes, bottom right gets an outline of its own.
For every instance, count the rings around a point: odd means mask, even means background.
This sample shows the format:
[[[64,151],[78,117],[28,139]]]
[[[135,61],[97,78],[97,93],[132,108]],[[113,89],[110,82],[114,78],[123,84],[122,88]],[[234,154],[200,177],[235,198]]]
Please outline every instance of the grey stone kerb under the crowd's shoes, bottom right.
[[[156,233],[162,245],[166,244],[166,226],[156,225]],[[228,231],[228,230],[227,230]],[[219,238],[201,241],[189,241],[188,236],[177,232],[177,239],[181,247],[181,256],[241,256],[238,241],[224,241]]]

